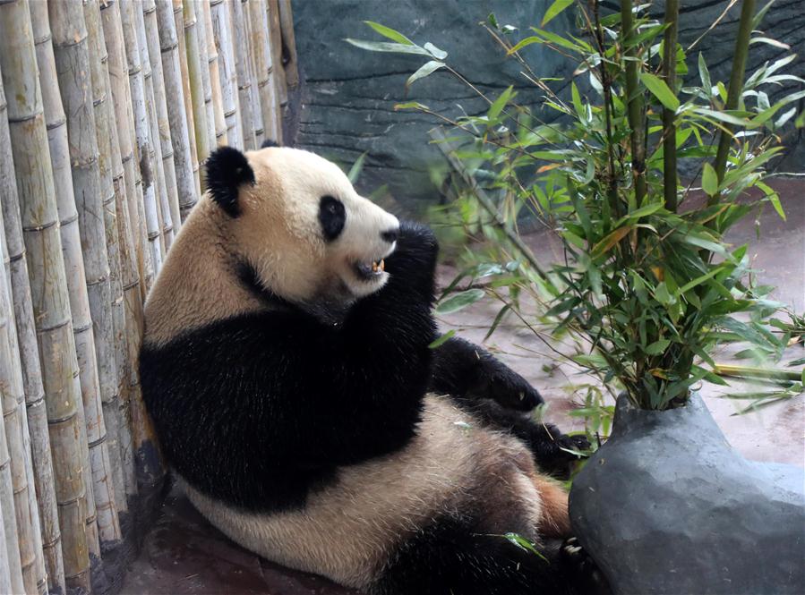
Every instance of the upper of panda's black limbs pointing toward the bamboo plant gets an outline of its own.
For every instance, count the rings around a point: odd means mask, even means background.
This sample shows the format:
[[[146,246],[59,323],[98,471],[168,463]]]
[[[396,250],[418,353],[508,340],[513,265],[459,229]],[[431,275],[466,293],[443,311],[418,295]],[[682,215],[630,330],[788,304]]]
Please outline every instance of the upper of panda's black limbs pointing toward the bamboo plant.
[[[521,411],[531,411],[543,403],[526,378],[478,345],[458,337],[448,339],[433,353],[431,388],[458,398],[489,398]]]

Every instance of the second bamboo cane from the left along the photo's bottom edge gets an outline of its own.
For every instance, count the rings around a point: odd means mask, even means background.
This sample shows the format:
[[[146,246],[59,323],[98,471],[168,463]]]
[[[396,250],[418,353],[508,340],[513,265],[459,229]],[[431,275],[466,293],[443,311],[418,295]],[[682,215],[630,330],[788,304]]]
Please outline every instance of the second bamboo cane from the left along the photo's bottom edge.
[[[0,105],[3,103],[4,98],[0,91]],[[13,178],[4,179],[2,183],[13,183]],[[11,278],[11,259],[5,245],[3,229],[3,216],[0,213],[0,260],[3,261],[3,268],[0,269],[0,399],[4,417],[4,423],[0,423],[0,461],[4,462],[0,464],[0,481],[3,482],[0,486],[0,509],[11,517],[4,519],[4,540],[0,541],[0,548],[7,548],[7,563],[11,563],[9,569],[13,570],[14,587],[20,586],[26,593],[37,593],[39,588],[33,549],[28,474],[25,471],[27,445],[24,443],[20,413],[20,404],[23,404],[21,411],[25,411],[25,395],[22,391],[17,334],[13,325],[11,287],[8,285]],[[9,504],[11,508],[8,507]]]

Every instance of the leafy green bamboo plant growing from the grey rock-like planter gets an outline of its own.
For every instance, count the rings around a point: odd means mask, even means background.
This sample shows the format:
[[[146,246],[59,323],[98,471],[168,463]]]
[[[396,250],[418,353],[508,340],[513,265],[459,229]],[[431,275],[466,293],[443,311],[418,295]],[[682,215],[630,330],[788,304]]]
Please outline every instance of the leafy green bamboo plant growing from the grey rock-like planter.
[[[480,115],[452,117],[413,101],[398,105],[455,126],[465,146],[454,157],[467,168],[492,172],[492,188],[501,196],[491,206],[477,200],[489,223],[468,227],[493,239],[498,258],[510,262],[476,262],[451,287],[461,278],[491,280],[450,295],[441,311],[492,294],[504,303],[490,332],[510,313],[559,357],[567,354],[553,344],[569,334],[581,346],[570,358],[574,363],[607,389],[621,387],[645,409],[685,404],[701,380],[724,384],[712,357],[718,344],[743,340],[779,357],[788,336],[771,332],[769,319],[778,306],[766,299],[770,288],[753,284],[748,247],[724,241],[733,225],[761,208],[784,217],[764,180],[769,161],[783,150],[781,131],[802,123],[796,104],[805,91],[783,93],[775,103],[766,91],[780,83],[801,87],[805,80],[782,73],[794,55],[744,77],[751,44],[785,47],[752,34],[770,5],[756,14],[752,0],[742,3],[728,85],[711,81],[703,55],[696,61],[700,84],[686,76],[688,56],[676,39],[677,2],[665,3],[661,22],[647,12],[648,4],[629,0],[609,13],[595,0],[556,0],[540,26],[519,39],[515,28],[490,15],[485,29],[544,97],[540,111],[518,103],[512,87],[497,96],[484,93],[439,47],[417,44],[379,23],[368,24],[384,41],[348,39],[364,49],[421,56],[425,63],[407,87],[440,72],[436,76],[463,81],[488,106]],[[577,30],[561,35],[545,28],[571,7]],[[561,81],[566,91],[528,63],[522,50],[535,44],[569,60],[574,70]],[[556,117],[547,120],[546,114]],[[680,162],[698,170],[686,186],[680,186]],[[708,197],[703,205],[697,203],[697,181]],[[518,214],[527,211],[561,241],[563,258],[550,268],[512,242]],[[545,305],[541,314],[523,305],[524,292]],[[741,313],[747,318],[736,318]],[[550,338],[544,327],[552,329]]]

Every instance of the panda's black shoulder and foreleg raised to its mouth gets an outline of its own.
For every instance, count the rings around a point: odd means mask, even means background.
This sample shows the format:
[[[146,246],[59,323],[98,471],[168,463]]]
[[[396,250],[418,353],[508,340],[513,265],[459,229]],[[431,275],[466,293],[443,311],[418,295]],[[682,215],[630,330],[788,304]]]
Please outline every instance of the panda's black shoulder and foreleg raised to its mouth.
[[[405,446],[430,380],[436,251],[429,230],[403,225],[389,283],[338,327],[288,307],[144,344],[142,394],[168,462],[211,497],[277,511],[339,465]]]

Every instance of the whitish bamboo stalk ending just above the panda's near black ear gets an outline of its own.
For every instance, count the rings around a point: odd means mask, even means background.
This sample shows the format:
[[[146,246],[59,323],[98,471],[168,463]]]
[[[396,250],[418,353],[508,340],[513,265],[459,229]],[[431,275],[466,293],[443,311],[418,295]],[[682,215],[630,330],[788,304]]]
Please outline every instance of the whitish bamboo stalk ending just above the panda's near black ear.
[[[215,44],[220,47],[218,51],[218,76],[224,106],[224,119],[227,122],[227,144],[243,150],[244,132],[240,123],[240,106],[237,105],[237,73],[235,69],[235,50],[232,46],[232,15],[229,5],[224,0],[211,0],[210,13],[212,16],[212,37],[215,39]]]

